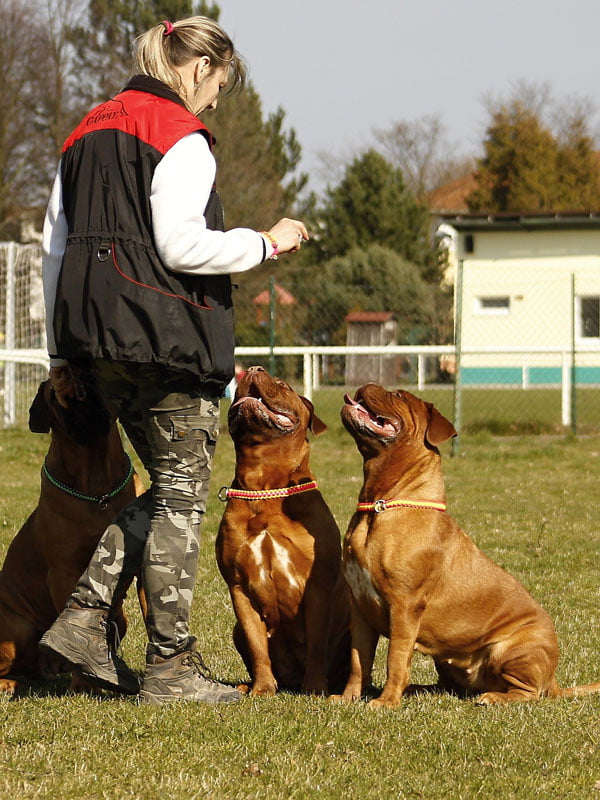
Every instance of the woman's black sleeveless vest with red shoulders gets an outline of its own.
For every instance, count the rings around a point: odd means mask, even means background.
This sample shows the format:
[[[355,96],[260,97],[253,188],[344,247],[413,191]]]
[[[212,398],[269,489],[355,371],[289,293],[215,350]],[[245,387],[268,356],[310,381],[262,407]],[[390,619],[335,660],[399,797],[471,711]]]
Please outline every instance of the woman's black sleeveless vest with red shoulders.
[[[63,146],[68,224],[54,332],[70,361],[155,362],[198,375],[220,392],[233,376],[233,308],[228,275],[169,270],[154,244],[150,189],[163,155],[205,126],[177,94],[138,75],[93,109]],[[207,226],[223,230],[213,189]]]

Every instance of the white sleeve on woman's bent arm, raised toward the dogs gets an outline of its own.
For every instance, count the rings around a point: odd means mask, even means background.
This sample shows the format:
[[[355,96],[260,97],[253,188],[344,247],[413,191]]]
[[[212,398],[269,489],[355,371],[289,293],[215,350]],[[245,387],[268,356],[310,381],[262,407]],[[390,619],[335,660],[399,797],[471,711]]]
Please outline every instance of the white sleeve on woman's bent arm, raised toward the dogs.
[[[168,150],[152,178],[150,205],[154,241],[174,272],[210,275],[245,272],[262,263],[264,237],[250,228],[212,231],[204,210],[216,172],[201,133],[191,133]]]

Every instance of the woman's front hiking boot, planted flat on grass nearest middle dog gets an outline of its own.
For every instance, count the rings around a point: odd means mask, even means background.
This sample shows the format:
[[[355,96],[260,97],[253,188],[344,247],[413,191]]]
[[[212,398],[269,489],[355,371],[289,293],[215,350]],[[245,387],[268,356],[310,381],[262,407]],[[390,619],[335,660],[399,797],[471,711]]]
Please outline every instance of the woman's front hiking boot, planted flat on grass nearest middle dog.
[[[235,703],[241,697],[233,686],[211,678],[210,670],[193,646],[171,658],[151,655],[146,660],[141,703],[155,706],[177,701]]]

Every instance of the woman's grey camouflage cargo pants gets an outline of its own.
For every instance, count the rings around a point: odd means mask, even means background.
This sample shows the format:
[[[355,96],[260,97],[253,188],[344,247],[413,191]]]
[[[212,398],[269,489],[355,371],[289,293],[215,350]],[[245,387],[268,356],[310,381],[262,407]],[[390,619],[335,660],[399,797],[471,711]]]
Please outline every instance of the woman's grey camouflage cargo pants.
[[[92,368],[151,487],[106,529],[73,598],[110,608],[139,572],[148,601],[147,653],[170,656],[194,641],[189,616],[219,400],[203,394],[197,378],[158,365],[95,361]]]

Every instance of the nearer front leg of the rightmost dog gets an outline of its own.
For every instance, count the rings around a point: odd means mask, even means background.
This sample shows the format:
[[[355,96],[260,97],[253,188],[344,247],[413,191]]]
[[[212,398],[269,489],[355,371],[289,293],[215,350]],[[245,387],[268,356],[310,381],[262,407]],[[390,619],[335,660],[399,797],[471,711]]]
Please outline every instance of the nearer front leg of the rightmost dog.
[[[371,700],[375,708],[394,708],[408,686],[410,662],[417,640],[420,614],[411,604],[394,603],[390,608],[390,641],[387,656],[387,679],[379,697]]]

